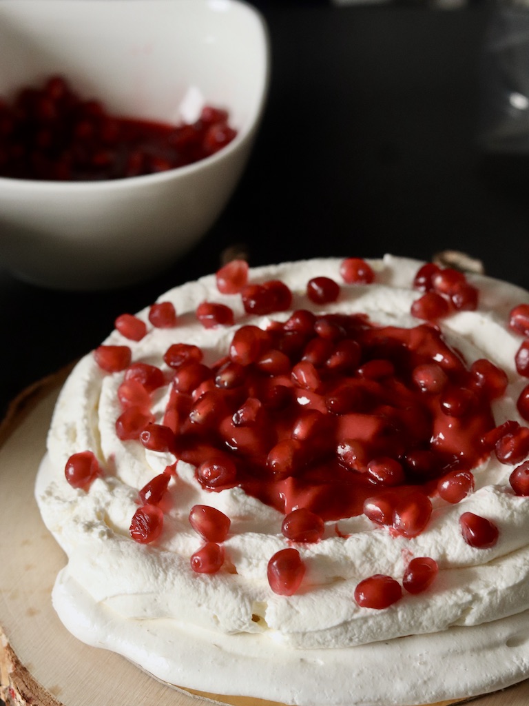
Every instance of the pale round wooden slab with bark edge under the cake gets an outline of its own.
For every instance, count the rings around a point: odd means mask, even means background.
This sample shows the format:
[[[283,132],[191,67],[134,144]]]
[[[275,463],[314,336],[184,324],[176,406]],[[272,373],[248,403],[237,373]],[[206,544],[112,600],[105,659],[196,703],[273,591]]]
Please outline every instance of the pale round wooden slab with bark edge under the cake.
[[[269,706],[166,686],[120,655],[79,642],[57,618],[51,587],[65,556],[40,519],[33,486],[67,373],[37,383],[0,425],[0,699],[8,706],[205,706],[205,698]],[[472,703],[527,706],[529,681]]]

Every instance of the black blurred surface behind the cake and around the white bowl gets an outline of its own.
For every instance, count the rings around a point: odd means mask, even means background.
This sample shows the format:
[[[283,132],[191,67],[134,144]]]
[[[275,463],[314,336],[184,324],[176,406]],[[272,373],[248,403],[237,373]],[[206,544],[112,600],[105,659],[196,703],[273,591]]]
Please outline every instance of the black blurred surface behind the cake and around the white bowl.
[[[0,417],[21,390],[98,345],[119,313],[212,272],[237,242],[253,265],[458,249],[529,286],[528,162],[478,143],[487,7],[260,8],[269,98],[223,215],[181,261],[127,289],[54,292],[0,269]]]

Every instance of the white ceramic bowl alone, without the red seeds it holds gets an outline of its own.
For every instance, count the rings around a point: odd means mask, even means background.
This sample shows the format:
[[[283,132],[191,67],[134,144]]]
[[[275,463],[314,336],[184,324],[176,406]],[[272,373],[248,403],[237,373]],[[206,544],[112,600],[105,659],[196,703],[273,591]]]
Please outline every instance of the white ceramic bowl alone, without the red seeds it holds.
[[[2,0],[0,95],[53,74],[107,112],[193,121],[229,110],[238,134],[205,160],[142,177],[0,178],[1,266],[39,285],[149,277],[212,226],[248,160],[269,78],[257,11],[239,0]]]

